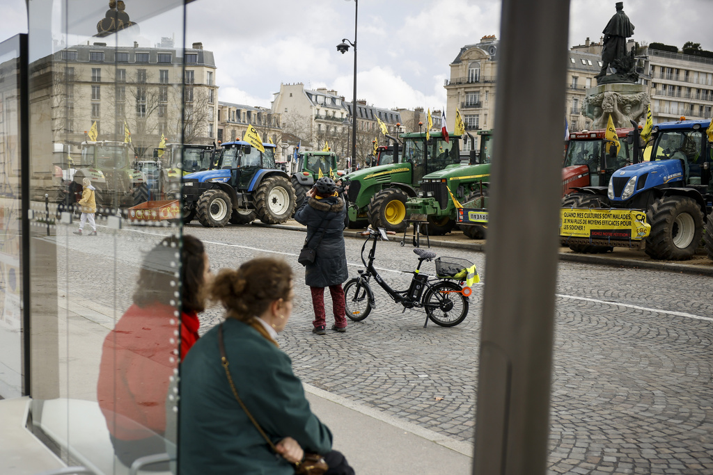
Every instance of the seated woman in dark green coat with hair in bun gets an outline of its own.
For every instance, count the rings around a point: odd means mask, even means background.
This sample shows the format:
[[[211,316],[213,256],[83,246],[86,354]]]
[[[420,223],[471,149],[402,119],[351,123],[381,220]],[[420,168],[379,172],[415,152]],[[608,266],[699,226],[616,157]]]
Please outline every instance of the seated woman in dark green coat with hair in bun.
[[[193,345],[181,366],[180,474],[292,475],[304,452],[324,456],[327,474],[354,474],[332,450],[332,432],[312,414],[292,361],[277,344],[292,313],[292,268],[253,259],[220,271],[209,293],[225,306],[226,319]],[[230,387],[221,333],[235,392],[275,449]]]

